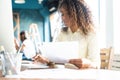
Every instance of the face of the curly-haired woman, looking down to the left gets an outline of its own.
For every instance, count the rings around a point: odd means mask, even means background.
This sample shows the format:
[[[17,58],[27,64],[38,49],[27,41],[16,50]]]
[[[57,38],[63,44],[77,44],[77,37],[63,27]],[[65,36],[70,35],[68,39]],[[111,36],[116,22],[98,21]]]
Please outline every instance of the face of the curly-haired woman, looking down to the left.
[[[65,26],[70,27],[71,26],[70,25],[70,18],[68,16],[67,11],[64,8],[61,8],[60,12],[61,12],[61,17],[62,17],[62,20],[63,20]]]

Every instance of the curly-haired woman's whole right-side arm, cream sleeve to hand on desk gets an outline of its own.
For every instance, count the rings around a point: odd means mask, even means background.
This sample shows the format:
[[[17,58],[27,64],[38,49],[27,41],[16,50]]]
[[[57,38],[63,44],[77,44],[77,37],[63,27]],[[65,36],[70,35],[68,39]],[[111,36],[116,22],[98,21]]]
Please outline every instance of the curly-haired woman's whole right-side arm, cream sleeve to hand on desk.
[[[69,63],[76,65],[80,69],[100,68],[100,48],[98,45],[96,34],[92,34],[87,40],[87,56],[86,58],[70,59]]]

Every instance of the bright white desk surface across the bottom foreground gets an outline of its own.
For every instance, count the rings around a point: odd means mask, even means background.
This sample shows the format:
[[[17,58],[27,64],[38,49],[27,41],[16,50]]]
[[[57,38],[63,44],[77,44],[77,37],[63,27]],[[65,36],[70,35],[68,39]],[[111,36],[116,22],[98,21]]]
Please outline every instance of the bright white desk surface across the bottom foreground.
[[[1,76],[1,74],[0,74]],[[0,77],[0,80],[120,80],[120,71],[39,69],[25,70],[16,76]]]

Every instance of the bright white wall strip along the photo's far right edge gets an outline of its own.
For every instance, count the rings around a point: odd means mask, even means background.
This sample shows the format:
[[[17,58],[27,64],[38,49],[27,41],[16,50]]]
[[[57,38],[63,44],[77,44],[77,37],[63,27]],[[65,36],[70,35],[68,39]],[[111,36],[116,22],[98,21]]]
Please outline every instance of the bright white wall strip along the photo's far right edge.
[[[114,16],[114,47],[115,53],[120,54],[120,0],[113,0]]]

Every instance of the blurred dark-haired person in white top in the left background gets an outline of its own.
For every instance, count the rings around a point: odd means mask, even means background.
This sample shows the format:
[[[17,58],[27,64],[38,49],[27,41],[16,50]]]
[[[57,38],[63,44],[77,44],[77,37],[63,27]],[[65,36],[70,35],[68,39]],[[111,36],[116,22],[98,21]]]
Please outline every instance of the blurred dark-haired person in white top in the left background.
[[[36,55],[35,45],[29,38],[27,31],[20,32],[20,52],[23,53],[23,59],[31,60]]]

